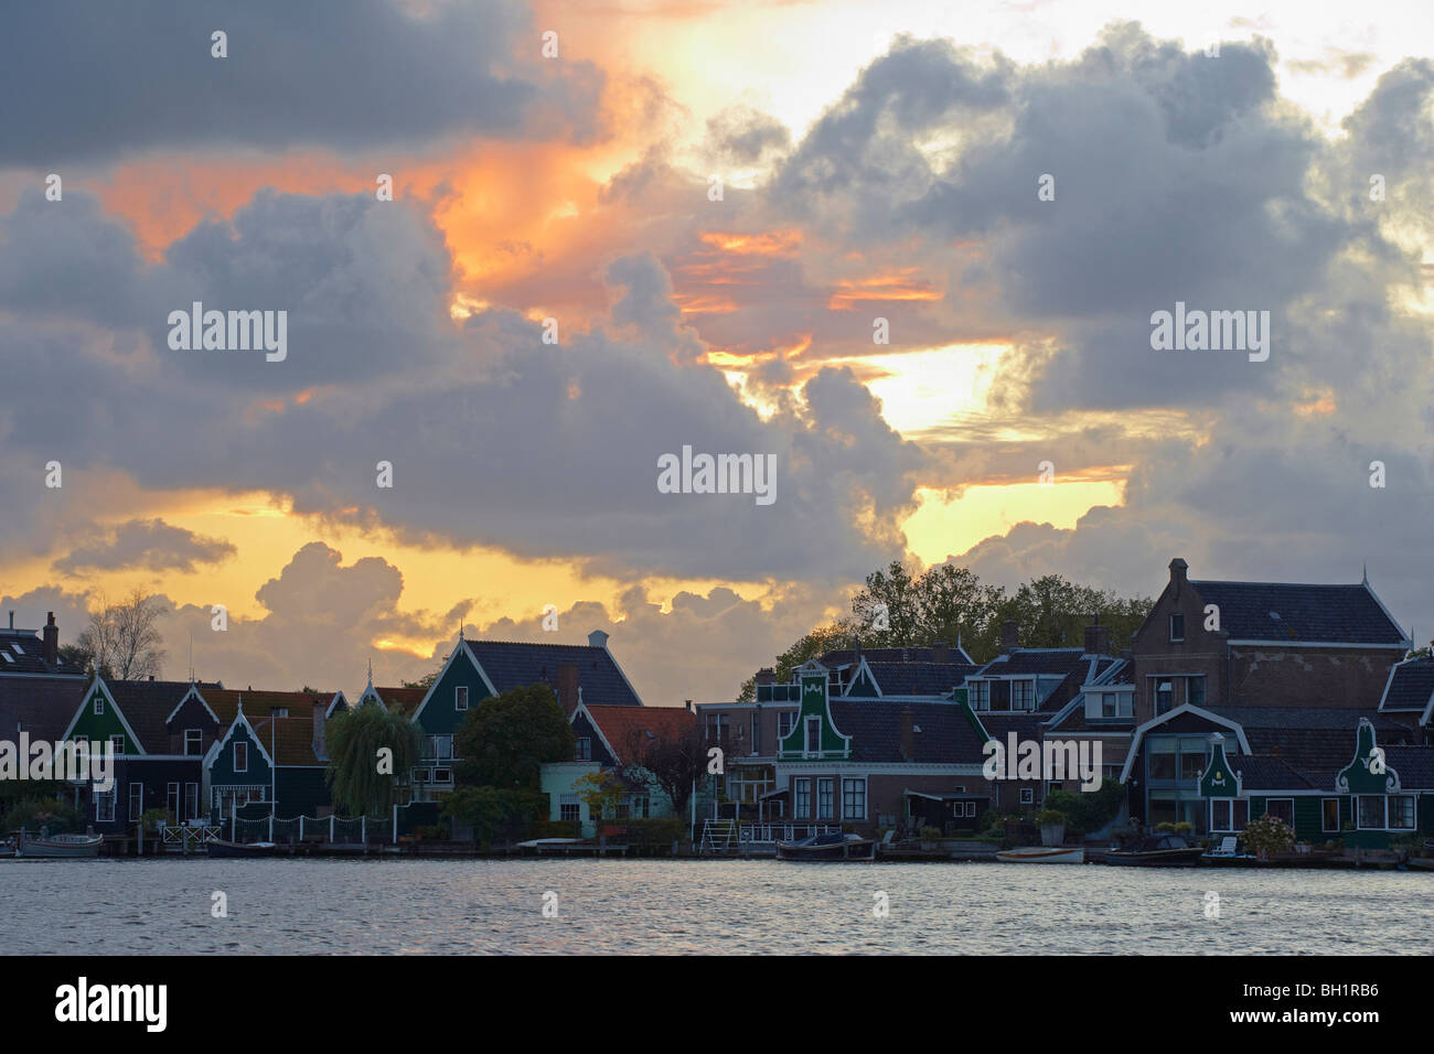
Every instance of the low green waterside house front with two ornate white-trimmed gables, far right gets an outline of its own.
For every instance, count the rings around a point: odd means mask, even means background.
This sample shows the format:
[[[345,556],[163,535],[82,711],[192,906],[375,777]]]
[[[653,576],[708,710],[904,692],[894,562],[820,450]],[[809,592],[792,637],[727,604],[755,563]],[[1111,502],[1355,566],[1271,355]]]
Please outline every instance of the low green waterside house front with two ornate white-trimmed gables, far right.
[[[1338,839],[1347,849],[1387,849],[1398,837],[1434,836],[1434,746],[1377,740],[1362,717],[1347,740],[1348,764],[1309,771],[1269,754],[1229,757],[1215,733],[1200,776],[1209,832],[1239,835],[1249,820],[1272,815],[1311,845]]]

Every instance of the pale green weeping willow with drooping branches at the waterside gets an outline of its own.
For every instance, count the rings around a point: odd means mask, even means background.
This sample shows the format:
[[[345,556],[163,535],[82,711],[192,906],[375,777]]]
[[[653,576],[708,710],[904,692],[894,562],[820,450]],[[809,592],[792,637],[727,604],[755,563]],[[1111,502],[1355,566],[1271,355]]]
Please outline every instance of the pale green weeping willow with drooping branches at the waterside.
[[[397,804],[397,782],[419,760],[419,730],[397,707],[364,704],[336,714],[326,730],[334,809],[383,816]],[[390,750],[387,757],[381,750]],[[387,763],[384,763],[387,761]]]

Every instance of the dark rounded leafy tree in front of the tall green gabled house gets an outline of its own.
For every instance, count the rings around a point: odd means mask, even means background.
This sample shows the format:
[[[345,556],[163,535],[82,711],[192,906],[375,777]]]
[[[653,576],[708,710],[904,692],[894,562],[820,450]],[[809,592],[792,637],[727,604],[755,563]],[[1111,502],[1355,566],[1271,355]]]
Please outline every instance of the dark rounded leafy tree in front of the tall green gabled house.
[[[576,741],[552,688],[509,688],[467,711],[453,737],[462,759],[453,776],[467,786],[538,790],[542,766],[571,761]]]

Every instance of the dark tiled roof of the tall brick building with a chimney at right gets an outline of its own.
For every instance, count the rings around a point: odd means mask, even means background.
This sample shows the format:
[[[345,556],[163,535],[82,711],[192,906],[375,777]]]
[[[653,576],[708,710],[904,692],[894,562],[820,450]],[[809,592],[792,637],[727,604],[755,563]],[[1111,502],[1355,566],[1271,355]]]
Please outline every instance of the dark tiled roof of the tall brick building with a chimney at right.
[[[1200,599],[1220,609],[1220,630],[1233,640],[1388,644],[1404,632],[1364,585],[1196,582]],[[1271,612],[1279,615],[1272,618]]]

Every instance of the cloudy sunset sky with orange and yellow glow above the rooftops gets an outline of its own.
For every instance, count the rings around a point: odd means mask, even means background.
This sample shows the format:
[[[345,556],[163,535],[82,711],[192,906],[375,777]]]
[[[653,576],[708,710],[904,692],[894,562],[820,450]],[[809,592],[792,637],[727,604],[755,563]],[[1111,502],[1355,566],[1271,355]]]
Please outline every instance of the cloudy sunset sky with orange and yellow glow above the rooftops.
[[[1367,572],[1434,631],[1420,4],[4,22],[17,625],[141,588],[166,675],[350,694],[460,625],[601,628],[652,706],[730,698],[893,559]],[[172,347],[195,301],[284,311],[285,356]],[[1268,318],[1268,357],[1156,350],[1177,303]],[[773,500],[664,493],[684,446],[773,457]]]

